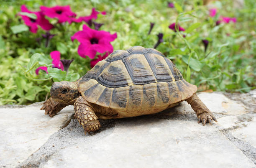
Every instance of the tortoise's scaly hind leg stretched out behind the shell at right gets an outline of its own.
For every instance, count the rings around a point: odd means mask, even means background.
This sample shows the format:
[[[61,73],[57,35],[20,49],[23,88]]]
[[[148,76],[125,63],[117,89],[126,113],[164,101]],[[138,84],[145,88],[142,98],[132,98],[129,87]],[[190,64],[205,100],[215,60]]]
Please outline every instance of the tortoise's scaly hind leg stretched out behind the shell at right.
[[[197,97],[197,94],[194,93],[192,97],[186,99],[188,104],[191,105],[192,109],[196,112],[198,123],[202,121],[202,125],[205,125],[206,122],[209,122],[212,125],[212,120],[218,122],[212,112],[205,106],[205,104]]]

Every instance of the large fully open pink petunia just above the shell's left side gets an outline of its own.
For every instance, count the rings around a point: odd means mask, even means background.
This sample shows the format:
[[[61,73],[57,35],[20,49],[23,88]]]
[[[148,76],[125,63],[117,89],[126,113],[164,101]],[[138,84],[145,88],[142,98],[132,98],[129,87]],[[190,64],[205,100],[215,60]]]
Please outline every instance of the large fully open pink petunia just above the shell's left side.
[[[83,25],[83,30],[74,33],[71,36],[71,40],[77,39],[80,42],[78,46],[78,54],[81,57],[89,56],[93,59],[97,52],[113,52],[113,46],[110,44],[117,38],[117,34],[110,34],[106,31],[97,31],[89,28],[87,25]]]

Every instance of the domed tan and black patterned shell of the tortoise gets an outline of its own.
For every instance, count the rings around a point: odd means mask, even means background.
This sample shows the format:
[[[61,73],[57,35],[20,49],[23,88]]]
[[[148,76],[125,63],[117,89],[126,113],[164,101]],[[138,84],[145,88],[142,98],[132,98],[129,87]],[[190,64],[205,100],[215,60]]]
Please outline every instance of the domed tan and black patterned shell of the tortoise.
[[[82,76],[77,86],[82,97],[93,104],[148,114],[164,110],[197,91],[161,52],[141,46],[114,51]]]

